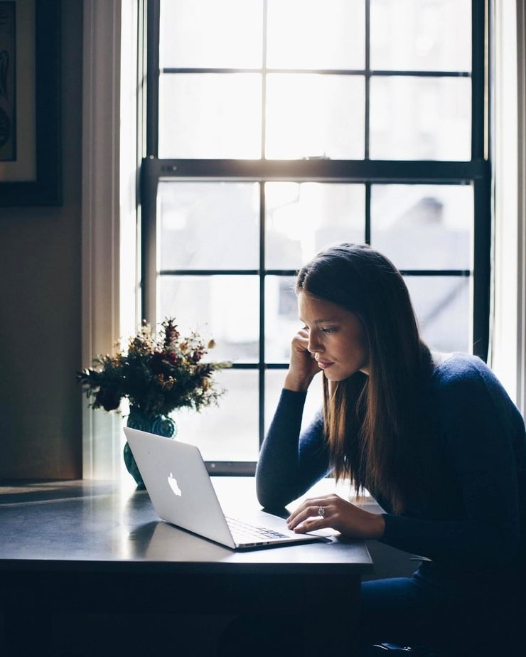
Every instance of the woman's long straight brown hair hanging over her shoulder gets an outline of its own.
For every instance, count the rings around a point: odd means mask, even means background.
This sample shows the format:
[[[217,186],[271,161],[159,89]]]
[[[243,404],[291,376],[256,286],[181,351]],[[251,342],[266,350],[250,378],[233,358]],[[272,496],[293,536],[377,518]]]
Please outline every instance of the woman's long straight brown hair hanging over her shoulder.
[[[324,417],[337,479],[390,501],[395,513],[429,491],[436,455],[424,428],[422,390],[432,369],[402,275],[367,245],[343,243],[302,267],[296,293],[355,313],[369,348],[369,375],[323,378]]]

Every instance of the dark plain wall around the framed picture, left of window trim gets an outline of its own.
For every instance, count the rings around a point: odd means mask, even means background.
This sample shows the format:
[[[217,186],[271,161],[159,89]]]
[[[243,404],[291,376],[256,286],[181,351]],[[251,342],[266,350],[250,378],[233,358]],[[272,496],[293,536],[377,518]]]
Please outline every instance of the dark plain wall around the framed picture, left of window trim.
[[[0,208],[0,479],[82,476],[82,0],[62,18],[63,205]]]

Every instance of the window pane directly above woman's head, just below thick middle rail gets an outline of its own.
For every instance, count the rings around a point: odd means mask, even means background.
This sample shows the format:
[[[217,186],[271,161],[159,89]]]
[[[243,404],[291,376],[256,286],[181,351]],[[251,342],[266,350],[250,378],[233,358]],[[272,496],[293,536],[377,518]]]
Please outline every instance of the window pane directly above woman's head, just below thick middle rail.
[[[332,242],[365,240],[365,186],[266,183],[266,267],[298,269]]]

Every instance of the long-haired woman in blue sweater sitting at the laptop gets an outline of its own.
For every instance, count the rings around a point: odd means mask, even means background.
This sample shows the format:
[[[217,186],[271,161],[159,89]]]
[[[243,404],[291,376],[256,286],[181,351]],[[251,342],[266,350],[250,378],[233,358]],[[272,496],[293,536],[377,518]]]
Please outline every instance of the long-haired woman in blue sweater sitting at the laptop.
[[[291,513],[291,529],[333,528],[422,557],[413,577],[363,582],[364,646],[513,654],[501,648],[515,647],[510,619],[517,602],[525,607],[526,439],[517,407],[479,358],[431,353],[402,276],[372,248],[321,252],[299,272],[296,294],[304,328],[259,457],[259,502],[283,508],[332,472],[370,491],[385,513],[321,496]],[[323,411],[301,432],[319,373]]]

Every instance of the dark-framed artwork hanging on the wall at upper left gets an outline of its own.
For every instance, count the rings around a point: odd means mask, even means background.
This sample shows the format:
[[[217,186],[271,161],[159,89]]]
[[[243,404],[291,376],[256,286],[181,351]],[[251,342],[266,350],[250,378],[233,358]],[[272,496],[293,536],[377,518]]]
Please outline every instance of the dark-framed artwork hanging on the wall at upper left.
[[[60,0],[0,0],[0,205],[60,205]]]

